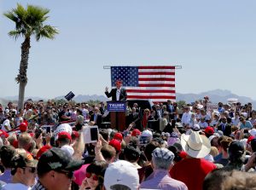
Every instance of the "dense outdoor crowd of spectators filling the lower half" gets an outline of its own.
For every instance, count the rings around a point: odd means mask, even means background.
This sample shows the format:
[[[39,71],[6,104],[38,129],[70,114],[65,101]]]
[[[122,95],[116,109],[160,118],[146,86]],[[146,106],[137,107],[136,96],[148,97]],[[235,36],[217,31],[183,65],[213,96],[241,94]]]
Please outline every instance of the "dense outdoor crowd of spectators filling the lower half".
[[[0,189],[256,189],[256,111],[209,102],[127,105],[124,131],[104,125],[105,102],[0,105]]]

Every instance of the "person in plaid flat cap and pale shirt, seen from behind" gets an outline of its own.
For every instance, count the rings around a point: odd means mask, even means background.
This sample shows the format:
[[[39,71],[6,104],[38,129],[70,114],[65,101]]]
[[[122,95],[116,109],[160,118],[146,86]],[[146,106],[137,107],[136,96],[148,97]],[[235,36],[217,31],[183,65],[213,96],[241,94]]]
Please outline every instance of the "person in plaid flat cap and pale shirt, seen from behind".
[[[188,187],[182,181],[174,180],[169,175],[173,158],[174,154],[167,148],[155,148],[151,161],[154,172],[141,183],[140,188],[187,190]]]

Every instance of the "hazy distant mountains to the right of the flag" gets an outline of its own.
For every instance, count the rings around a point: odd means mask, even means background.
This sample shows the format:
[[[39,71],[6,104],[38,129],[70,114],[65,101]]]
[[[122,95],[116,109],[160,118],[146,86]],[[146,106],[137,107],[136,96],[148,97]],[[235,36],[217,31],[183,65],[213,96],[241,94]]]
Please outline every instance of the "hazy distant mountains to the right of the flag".
[[[226,103],[228,101],[228,99],[236,98],[236,99],[238,99],[238,101],[241,102],[241,104],[246,104],[247,102],[252,102],[253,107],[256,107],[256,101],[253,101],[252,98],[235,95],[230,90],[227,90],[227,89],[214,89],[214,90],[210,90],[207,92],[202,92],[200,94],[176,93],[176,99],[177,99],[177,101],[186,101],[189,103],[189,102],[194,102],[196,100],[201,100],[206,95],[209,96],[210,101],[212,101],[212,103],[218,103],[219,101]]]

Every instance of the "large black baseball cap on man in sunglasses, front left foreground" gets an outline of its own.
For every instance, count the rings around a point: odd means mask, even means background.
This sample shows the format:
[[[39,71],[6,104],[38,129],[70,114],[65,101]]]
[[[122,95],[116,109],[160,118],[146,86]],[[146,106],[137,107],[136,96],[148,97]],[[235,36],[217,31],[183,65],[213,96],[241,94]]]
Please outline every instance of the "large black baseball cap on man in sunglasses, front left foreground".
[[[75,160],[61,148],[53,147],[39,158],[38,173],[47,173],[50,170],[74,171],[79,170],[83,164],[83,160]]]

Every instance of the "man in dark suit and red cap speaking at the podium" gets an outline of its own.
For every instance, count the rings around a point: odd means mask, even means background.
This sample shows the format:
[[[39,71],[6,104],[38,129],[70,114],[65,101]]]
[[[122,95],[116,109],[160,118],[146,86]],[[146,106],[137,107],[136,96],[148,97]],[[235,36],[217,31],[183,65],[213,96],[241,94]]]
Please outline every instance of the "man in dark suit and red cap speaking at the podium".
[[[122,88],[122,82],[117,80],[115,84],[116,88],[111,89],[110,93],[108,92],[108,87],[106,87],[105,94],[108,98],[112,97],[112,101],[126,101],[127,93],[126,89]]]

